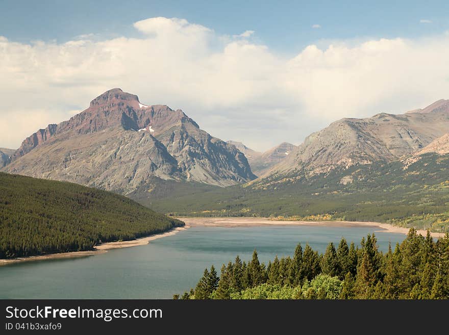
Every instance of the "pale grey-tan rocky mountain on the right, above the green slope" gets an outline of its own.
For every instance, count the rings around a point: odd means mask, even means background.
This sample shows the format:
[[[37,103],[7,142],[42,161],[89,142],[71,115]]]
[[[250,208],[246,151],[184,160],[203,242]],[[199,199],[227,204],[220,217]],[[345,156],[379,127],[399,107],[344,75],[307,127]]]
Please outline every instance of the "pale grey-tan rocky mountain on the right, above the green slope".
[[[267,181],[258,179],[255,183],[285,181],[286,175],[292,181],[354,165],[396,161],[447,133],[449,104],[446,102],[440,100],[423,110],[402,115],[380,113],[364,119],[335,121],[308,136],[263,176]]]

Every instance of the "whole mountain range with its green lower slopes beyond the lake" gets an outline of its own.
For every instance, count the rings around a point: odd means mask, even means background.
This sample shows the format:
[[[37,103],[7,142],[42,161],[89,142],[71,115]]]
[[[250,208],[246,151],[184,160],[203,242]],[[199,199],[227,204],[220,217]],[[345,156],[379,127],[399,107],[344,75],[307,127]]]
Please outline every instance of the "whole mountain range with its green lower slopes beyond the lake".
[[[258,152],[112,89],[17,150],[0,149],[0,159],[8,173],[111,190],[177,215],[401,219],[438,231],[449,220],[449,100],[344,118],[299,146]]]

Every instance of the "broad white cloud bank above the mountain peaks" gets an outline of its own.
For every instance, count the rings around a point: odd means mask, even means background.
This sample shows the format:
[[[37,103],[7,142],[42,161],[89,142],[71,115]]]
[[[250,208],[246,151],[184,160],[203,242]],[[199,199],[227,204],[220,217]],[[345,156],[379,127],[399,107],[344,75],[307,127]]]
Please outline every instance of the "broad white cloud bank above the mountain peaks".
[[[286,57],[184,19],[134,27],[138,38],[27,44],[0,37],[0,147],[18,147],[114,87],[145,105],[181,108],[213,136],[258,150],[299,144],[338,118],[400,113],[449,97],[444,34],[312,44]]]

